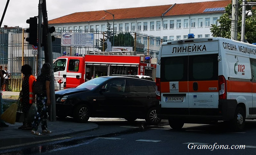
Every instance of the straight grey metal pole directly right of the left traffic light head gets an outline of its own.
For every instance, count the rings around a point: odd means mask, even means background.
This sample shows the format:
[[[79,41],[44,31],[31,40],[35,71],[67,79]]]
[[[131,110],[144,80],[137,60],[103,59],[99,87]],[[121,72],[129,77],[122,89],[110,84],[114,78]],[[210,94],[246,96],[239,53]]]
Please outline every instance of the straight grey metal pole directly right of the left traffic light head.
[[[42,5],[41,0],[39,0],[38,4],[38,49],[37,49],[37,73],[36,76],[39,76],[41,74],[42,69],[42,23],[43,23],[43,13],[42,13]]]

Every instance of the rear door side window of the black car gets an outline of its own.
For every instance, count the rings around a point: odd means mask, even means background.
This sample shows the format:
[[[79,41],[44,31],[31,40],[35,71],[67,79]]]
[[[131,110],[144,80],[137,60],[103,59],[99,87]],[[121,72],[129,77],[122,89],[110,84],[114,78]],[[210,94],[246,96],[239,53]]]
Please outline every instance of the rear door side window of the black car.
[[[148,92],[146,82],[139,80],[127,80],[128,92],[130,93],[145,93]]]

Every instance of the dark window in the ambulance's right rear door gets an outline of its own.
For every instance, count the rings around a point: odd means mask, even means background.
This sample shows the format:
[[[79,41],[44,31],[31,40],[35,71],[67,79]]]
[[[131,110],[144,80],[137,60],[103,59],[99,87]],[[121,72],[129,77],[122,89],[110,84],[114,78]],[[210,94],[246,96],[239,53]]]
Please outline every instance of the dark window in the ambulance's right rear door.
[[[188,81],[218,80],[218,54],[188,56]]]

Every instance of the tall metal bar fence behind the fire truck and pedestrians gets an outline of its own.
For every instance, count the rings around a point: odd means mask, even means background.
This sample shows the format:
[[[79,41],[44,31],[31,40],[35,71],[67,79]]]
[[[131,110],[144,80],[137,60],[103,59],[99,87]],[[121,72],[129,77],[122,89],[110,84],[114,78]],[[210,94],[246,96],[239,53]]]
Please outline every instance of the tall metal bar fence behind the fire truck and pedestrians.
[[[63,47],[61,46],[62,32],[93,33],[94,45],[93,47]],[[71,56],[84,56],[88,52],[104,51],[107,45],[103,41],[107,39],[112,43],[112,46],[132,47],[137,54],[156,58],[161,43],[167,41],[160,37],[135,32],[115,32],[114,37],[113,35],[109,36],[110,34],[113,34],[113,32],[56,30],[52,34],[55,36],[55,41],[52,42],[53,59],[63,55],[64,51]],[[33,48],[26,42],[26,37],[28,37],[26,29],[20,27],[4,27],[0,29],[0,66],[7,66],[12,78],[21,78],[22,61],[23,64],[32,66],[33,72],[36,73],[37,55],[32,54]],[[42,63],[44,63],[44,48],[42,55]]]

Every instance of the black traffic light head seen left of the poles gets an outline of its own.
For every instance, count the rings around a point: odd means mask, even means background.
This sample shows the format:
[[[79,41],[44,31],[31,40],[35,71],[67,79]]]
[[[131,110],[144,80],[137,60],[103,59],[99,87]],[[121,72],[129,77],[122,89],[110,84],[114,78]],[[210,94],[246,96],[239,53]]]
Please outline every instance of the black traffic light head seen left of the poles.
[[[37,18],[30,17],[27,23],[29,24],[29,28],[26,29],[26,32],[29,33],[29,37],[26,38],[26,41],[30,45],[37,46]]]

